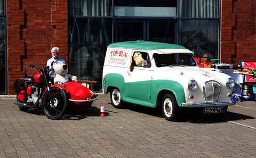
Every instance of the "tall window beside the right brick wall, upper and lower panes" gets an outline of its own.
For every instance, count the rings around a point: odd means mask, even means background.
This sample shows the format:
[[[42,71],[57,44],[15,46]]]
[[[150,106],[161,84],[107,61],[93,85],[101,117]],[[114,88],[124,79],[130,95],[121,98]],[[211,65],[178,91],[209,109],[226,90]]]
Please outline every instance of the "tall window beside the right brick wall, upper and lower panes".
[[[180,0],[179,44],[195,57],[219,58],[219,0]]]

